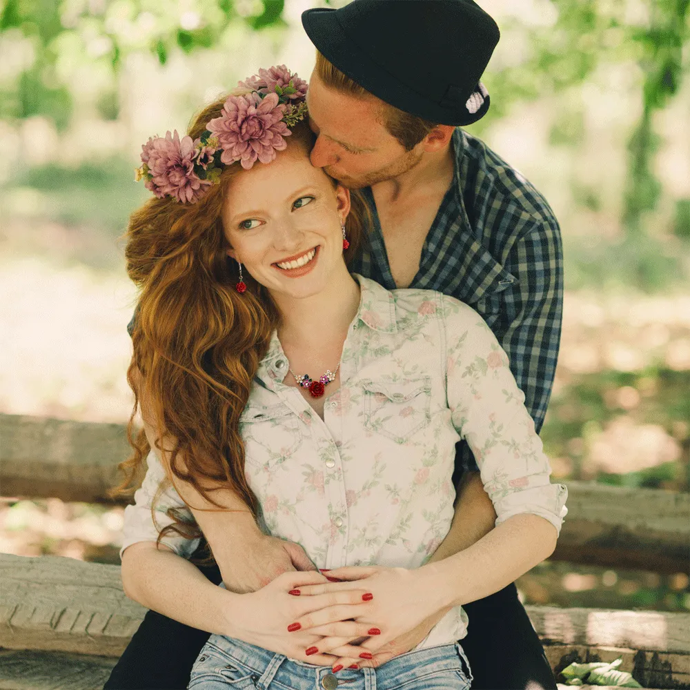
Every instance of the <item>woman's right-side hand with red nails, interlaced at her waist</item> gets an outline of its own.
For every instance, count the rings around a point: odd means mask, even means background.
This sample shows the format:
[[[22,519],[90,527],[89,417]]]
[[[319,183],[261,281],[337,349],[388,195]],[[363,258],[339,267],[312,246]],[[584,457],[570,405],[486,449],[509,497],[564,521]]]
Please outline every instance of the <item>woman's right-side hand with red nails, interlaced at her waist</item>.
[[[438,588],[433,582],[433,570],[424,566],[409,570],[405,568],[385,568],[382,566],[346,567],[329,571],[330,578],[344,582],[328,582],[302,586],[302,595],[322,596],[328,593],[362,591],[366,589],[373,595],[368,607],[358,609],[355,622],[372,626],[380,634],[368,631],[367,639],[361,646],[340,644],[344,640],[333,638],[324,628],[311,627],[311,615],[299,619],[314,633],[328,635],[322,643],[331,654],[339,655],[333,661],[333,668],[379,666],[398,654],[417,646],[431,628],[445,615],[450,607],[440,600]],[[353,640],[349,640],[352,642]],[[350,649],[355,649],[353,655]]]

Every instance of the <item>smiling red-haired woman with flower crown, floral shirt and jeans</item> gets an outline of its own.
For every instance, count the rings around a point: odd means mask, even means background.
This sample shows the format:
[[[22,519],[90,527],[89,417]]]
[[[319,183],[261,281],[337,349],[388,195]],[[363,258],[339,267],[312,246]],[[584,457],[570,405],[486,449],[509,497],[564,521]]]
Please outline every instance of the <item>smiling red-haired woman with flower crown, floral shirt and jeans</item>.
[[[466,687],[460,604],[553,551],[565,489],[549,484],[506,355],[471,308],[348,273],[362,206],[309,164],[306,85],[272,68],[241,86],[201,113],[190,137],[150,140],[142,154],[140,174],[159,198],[130,223],[128,270],[141,287],[130,383],[162,462],[150,462],[126,515],[126,591],[156,608],[168,585],[197,588],[194,606],[215,634],[190,687],[326,687],[337,682],[331,670],[341,682]],[[497,527],[425,564],[451,524],[463,437]],[[149,444],[140,439],[132,466]],[[221,595],[164,551],[159,569],[137,569],[130,545],[162,542],[153,488],[166,491],[166,477],[214,551],[221,515],[245,511],[352,582],[287,573],[256,593]],[[188,555],[189,513],[168,513],[166,529],[178,535],[168,543]],[[175,585],[159,575],[172,560]],[[182,596],[176,617],[198,620],[190,608]],[[377,617],[394,629],[398,614],[439,622],[415,651],[358,669],[357,640],[393,635]]]

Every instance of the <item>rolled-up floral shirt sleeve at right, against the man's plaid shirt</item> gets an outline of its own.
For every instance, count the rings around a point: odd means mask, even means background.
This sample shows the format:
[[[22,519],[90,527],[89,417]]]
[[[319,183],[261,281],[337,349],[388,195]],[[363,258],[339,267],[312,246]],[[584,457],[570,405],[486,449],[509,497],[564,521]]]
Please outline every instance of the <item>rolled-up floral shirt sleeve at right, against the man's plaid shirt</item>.
[[[568,491],[549,480],[549,459],[506,353],[471,307],[444,297],[444,315],[451,417],[477,460],[496,524],[533,513],[560,532]]]

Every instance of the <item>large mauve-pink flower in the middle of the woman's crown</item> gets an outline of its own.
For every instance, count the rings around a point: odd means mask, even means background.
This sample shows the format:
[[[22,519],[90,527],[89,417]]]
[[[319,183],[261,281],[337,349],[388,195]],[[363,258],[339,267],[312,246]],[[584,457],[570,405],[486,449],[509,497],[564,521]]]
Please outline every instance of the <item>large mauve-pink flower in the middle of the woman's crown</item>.
[[[283,121],[285,106],[278,103],[275,93],[262,99],[258,94],[228,96],[221,117],[212,119],[206,127],[218,137],[223,149],[221,161],[229,165],[240,161],[249,170],[257,159],[270,163],[275,152],[287,146],[283,137],[290,130]]]

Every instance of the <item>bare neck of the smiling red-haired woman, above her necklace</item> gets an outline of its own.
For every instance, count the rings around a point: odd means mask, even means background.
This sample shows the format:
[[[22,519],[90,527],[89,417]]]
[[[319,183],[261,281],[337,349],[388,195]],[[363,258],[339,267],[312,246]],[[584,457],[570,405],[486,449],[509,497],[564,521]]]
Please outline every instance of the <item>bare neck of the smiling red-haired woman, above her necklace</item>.
[[[321,292],[310,297],[273,295],[280,314],[278,337],[285,347],[344,339],[359,309],[359,284],[343,264]]]

